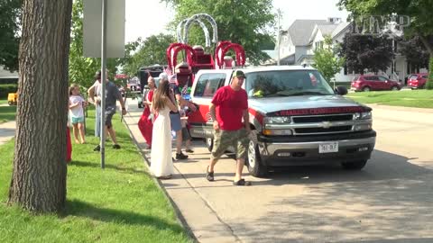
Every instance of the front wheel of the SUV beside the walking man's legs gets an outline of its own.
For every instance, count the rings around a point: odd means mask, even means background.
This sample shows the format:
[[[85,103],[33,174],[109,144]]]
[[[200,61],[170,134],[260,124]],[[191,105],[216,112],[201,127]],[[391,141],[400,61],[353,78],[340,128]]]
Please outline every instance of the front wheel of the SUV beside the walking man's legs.
[[[257,146],[257,131],[253,130],[250,134],[246,157],[246,166],[251,175],[255,177],[268,175],[268,166],[263,166],[261,162],[259,147]]]

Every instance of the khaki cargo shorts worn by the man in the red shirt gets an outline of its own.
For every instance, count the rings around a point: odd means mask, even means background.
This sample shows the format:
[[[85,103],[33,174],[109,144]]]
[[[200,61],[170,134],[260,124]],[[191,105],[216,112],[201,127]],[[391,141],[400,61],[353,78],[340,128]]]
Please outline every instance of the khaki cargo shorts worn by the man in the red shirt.
[[[241,130],[214,130],[214,148],[210,157],[218,159],[224,152],[232,146],[235,148],[236,158],[246,157],[246,148],[248,147],[248,134],[245,129]]]

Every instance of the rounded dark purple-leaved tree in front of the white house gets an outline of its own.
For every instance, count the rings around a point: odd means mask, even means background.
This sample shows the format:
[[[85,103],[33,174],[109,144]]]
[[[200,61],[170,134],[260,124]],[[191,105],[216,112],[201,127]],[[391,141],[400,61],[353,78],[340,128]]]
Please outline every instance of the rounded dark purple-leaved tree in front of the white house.
[[[394,58],[392,40],[387,36],[350,32],[345,34],[339,55],[345,58],[349,72],[355,71],[357,74],[364,74],[365,69],[374,73],[379,70],[386,71]]]

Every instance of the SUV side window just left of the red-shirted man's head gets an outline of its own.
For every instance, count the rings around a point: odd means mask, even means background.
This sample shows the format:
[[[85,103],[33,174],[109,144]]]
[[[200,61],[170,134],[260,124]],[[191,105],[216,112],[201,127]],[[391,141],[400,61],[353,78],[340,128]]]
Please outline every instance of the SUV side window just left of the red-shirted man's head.
[[[226,74],[203,74],[198,78],[194,96],[211,98],[225,81]]]

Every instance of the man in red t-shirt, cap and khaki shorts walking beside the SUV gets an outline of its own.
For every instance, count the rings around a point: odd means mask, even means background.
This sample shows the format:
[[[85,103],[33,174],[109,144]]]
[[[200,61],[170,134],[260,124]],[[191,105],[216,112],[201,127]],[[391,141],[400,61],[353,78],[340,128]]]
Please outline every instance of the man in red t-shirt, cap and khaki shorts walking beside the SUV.
[[[242,178],[248,134],[251,131],[248,115],[248,100],[244,84],[244,72],[236,70],[232,83],[217,90],[209,105],[210,115],[214,121],[214,148],[210,163],[207,166],[207,180],[214,181],[214,166],[226,149],[233,146],[236,151],[236,173],[233,184],[250,185]],[[244,119],[244,121],[243,121]]]

